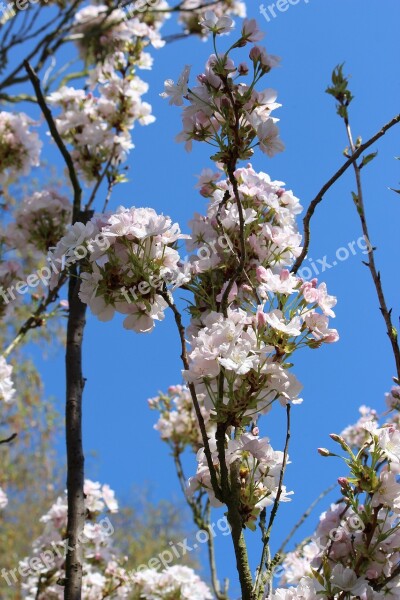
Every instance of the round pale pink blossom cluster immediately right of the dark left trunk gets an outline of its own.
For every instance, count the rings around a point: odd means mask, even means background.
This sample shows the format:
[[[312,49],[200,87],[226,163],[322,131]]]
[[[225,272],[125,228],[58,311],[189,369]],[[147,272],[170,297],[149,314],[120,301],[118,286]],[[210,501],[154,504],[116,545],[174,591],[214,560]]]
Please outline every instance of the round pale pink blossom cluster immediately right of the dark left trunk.
[[[86,244],[79,297],[101,321],[115,311],[127,315],[124,327],[148,332],[164,319],[167,286],[185,281],[176,242],[184,238],[179,226],[151,208],[123,208],[95,215],[86,225],[75,223],[50,255],[59,260]],[[95,239],[106,243],[95,243]],[[52,285],[57,279],[54,278]]]

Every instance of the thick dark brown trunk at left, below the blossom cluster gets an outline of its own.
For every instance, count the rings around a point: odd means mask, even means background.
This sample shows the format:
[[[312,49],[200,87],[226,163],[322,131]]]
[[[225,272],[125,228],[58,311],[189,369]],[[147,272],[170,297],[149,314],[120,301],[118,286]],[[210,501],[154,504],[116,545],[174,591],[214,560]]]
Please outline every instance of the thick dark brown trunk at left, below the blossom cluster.
[[[69,318],[66,349],[66,441],[68,463],[68,525],[66,559],[65,600],[81,600],[82,554],[79,543],[85,525],[85,503],[83,493],[84,455],[82,447],[82,339],[85,328],[86,305],[79,297],[80,281],[73,269],[69,280]]]

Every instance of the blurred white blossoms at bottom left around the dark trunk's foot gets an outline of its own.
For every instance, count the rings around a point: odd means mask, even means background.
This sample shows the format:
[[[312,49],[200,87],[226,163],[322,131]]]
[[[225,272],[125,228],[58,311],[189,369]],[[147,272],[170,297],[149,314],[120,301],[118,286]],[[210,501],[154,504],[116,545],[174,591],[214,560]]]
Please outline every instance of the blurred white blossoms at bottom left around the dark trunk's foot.
[[[83,598],[211,600],[206,584],[188,567],[128,572],[124,567],[125,558],[112,543],[112,523],[104,516],[118,511],[114,492],[108,485],[86,480],[84,493],[86,521],[79,542],[83,555]],[[64,494],[41,518],[44,532],[33,544],[33,555],[20,562],[19,571],[29,574],[22,583],[26,600],[62,600],[64,597],[60,583],[65,575],[67,511]]]

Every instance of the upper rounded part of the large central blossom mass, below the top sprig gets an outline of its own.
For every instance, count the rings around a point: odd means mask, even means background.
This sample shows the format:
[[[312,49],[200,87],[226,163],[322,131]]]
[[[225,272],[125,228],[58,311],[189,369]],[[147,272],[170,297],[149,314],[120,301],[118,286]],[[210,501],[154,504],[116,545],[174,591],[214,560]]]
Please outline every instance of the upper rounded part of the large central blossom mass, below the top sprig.
[[[219,178],[220,173],[206,169],[198,182],[200,193],[209,198],[209,204],[205,217],[195,214],[190,222],[192,237],[188,249],[192,250],[204,245],[215,249],[211,257],[198,258],[195,263],[198,272],[215,268],[229,258],[232,250],[239,248],[238,206],[230,181],[227,179],[218,181]],[[245,235],[249,245],[249,264],[246,267],[254,272],[255,278],[256,268],[260,265],[276,272],[279,267],[292,264],[302,250],[301,235],[296,224],[296,218],[302,211],[298,198],[292,191],[283,187],[282,181],[273,181],[263,172],[257,173],[250,164],[245,168],[237,169],[235,178],[238,183],[239,199],[243,206]],[[218,248],[217,240],[221,235],[221,227],[231,241],[232,248],[229,252]],[[231,262],[235,262],[234,256],[231,257]],[[268,283],[268,274],[261,271],[257,281],[260,294],[265,297],[268,291],[275,293],[274,289],[264,290],[263,283]],[[276,291],[291,293],[294,287],[296,287],[296,280],[287,277]]]

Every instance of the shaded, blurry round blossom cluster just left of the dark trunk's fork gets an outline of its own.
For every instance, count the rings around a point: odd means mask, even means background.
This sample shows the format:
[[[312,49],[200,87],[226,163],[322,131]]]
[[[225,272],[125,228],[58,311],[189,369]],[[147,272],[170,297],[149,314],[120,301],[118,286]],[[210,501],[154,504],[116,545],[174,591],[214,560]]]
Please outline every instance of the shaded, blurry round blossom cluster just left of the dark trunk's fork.
[[[34,192],[18,205],[7,231],[7,243],[20,251],[29,244],[47,252],[64,235],[71,213],[68,198],[55,190]]]

